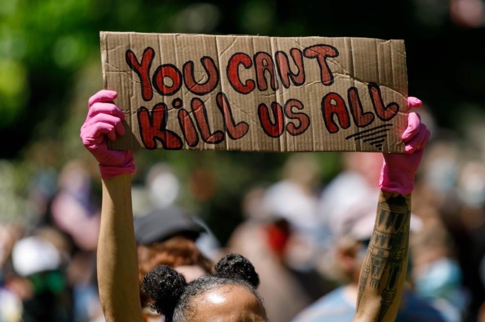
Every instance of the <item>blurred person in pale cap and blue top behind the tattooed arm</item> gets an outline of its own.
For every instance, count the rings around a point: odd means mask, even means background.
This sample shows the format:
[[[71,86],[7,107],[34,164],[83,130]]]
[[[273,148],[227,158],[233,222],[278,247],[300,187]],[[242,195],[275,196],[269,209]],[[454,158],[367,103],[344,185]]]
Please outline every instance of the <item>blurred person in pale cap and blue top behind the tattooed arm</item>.
[[[354,184],[355,182],[349,181]],[[329,188],[333,187],[330,182]],[[355,189],[350,187],[349,189]],[[361,189],[369,187],[360,186]],[[338,281],[339,286],[330,293],[323,296],[318,301],[305,308],[292,321],[294,322],[343,322],[351,321],[356,310],[356,302],[359,290],[359,275],[363,269],[366,252],[372,238],[374,229],[376,207],[374,198],[369,198],[374,194],[374,189],[363,193],[361,199],[354,199],[352,203],[340,207],[333,215],[331,225],[331,235],[334,242],[331,252],[332,258],[327,256],[331,264],[326,265],[324,272],[329,277]],[[331,194],[332,192],[329,191]],[[384,219],[386,221],[388,219]],[[416,216],[411,215],[410,219],[410,240],[414,234],[422,228],[422,221]],[[381,237],[381,241],[387,243],[389,238],[386,235]],[[329,255],[329,254],[328,254]],[[412,251],[410,258],[413,258]],[[413,272],[412,261],[407,267],[407,281],[401,305],[399,306],[395,321],[434,321],[434,322],[459,322],[460,316],[457,310],[452,312],[444,311],[451,308],[450,305],[433,306],[430,301],[421,298],[412,289],[411,274]],[[451,308],[452,309],[452,308]]]

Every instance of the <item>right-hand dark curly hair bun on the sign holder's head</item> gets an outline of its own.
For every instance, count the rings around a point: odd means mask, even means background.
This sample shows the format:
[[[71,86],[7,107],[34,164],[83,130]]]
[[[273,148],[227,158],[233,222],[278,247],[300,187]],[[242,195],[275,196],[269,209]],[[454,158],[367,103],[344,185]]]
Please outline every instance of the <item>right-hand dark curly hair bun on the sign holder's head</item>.
[[[254,270],[252,263],[240,254],[227,254],[215,264],[216,276],[240,279],[249,282],[255,288],[259,285],[259,275]]]

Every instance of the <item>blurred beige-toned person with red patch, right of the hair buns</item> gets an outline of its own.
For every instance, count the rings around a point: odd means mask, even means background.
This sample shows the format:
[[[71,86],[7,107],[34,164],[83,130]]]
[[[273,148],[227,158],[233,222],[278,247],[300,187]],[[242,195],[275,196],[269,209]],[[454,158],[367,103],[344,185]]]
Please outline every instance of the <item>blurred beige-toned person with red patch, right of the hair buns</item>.
[[[311,297],[285,263],[290,223],[266,212],[262,206],[265,191],[265,188],[254,188],[246,194],[243,206],[252,208],[246,209],[251,217],[234,229],[226,246],[228,251],[239,253],[252,262],[260,276],[258,289],[268,317],[285,322],[307,306]]]

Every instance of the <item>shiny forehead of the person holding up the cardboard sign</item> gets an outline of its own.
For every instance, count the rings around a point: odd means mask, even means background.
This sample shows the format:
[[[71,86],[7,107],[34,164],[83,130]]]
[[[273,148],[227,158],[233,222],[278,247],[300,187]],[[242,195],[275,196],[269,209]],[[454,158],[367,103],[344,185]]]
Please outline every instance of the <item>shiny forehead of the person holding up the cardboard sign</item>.
[[[192,301],[198,322],[266,322],[259,299],[242,285],[221,285],[196,296]]]

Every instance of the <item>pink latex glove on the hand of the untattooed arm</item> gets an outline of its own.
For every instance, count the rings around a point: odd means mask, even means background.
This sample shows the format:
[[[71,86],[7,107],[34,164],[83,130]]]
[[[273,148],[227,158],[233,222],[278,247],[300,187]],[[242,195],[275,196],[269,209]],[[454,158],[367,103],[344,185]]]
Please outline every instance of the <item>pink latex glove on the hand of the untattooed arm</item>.
[[[99,162],[102,179],[136,172],[132,151],[108,149],[106,138],[113,141],[116,135],[125,134],[125,128],[121,123],[125,115],[113,103],[116,96],[115,91],[104,89],[93,95],[89,99],[86,121],[81,127],[82,143]]]

